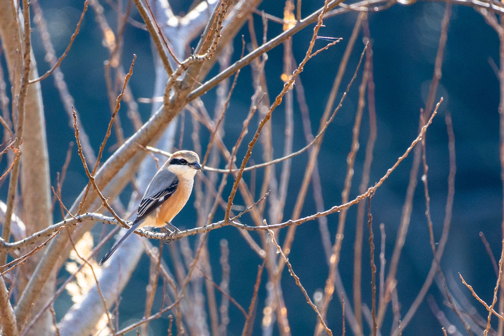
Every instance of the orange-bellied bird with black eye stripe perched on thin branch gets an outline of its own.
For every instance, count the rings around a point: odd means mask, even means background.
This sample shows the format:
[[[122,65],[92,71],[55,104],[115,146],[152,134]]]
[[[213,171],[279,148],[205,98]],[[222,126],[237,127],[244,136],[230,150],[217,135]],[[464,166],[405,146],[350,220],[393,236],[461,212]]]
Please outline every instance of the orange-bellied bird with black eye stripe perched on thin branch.
[[[198,171],[201,171],[200,157],[195,152],[179,150],[171,154],[147,186],[132,226],[98,264],[102,265],[138,228],[169,225],[174,230],[171,233],[179,231],[171,224],[171,220],[189,199]]]

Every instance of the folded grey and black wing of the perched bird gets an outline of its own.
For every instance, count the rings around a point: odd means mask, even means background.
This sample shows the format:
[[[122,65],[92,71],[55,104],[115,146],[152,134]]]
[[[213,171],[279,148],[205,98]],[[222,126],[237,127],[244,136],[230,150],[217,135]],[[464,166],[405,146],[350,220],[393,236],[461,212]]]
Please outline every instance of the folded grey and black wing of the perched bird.
[[[168,170],[160,170],[154,175],[145,191],[137,210],[134,223],[144,220],[149,214],[166,201],[178,186],[178,178]]]

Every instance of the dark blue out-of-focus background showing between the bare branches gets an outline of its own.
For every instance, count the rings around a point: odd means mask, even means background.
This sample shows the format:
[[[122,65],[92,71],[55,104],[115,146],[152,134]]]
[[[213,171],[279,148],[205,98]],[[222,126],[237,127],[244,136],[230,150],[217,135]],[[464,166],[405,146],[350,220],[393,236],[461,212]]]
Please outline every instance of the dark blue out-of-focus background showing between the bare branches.
[[[112,2],[101,2],[104,7],[105,18],[113,30],[116,29],[117,18]],[[184,15],[193,5],[192,1],[170,2],[173,12]],[[304,1],[302,3],[303,16],[312,13],[323,5],[322,1]],[[75,29],[82,12],[81,1],[42,1],[40,6],[44,18],[47,21],[50,39],[56,49],[56,55],[60,55],[66,48],[69,38]],[[276,17],[283,17],[283,2],[264,2],[259,9]],[[441,20],[445,11],[443,2],[417,2],[409,6],[399,4],[377,13],[369,13],[369,30],[372,45],[373,77],[375,83],[375,104],[377,119],[377,138],[373,152],[371,165],[370,185],[377,182],[401,156],[411,141],[418,134],[420,109],[425,107],[432,80],[434,61],[439,41]],[[134,6],[132,18],[142,21]],[[329,37],[342,37],[343,40],[335,46],[311,59],[304,72],[300,75],[303,84],[307,104],[310,108],[310,121],[312,131],[319,128],[324,107],[329,97],[332,82],[338,70],[345,46],[355,24],[357,12],[338,15],[324,21],[324,27],[319,35]],[[255,15],[255,26],[258,38],[263,31],[262,19],[259,14]],[[114,26],[115,25],[115,26]],[[300,62],[304,57],[309,39],[312,34],[312,25],[296,34],[293,38],[294,58]],[[282,31],[282,25],[273,21],[268,23],[268,38],[278,35]],[[37,27],[33,25],[32,43],[38,63],[39,74],[44,73],[50,67],[44,61],[44,49],[41,44]],[[246,27],[242,28],[235,39],[232,60],[240,57],[241,38],[243,35],[245,48],[250,48],[250,36]],[[95,21],[92,10],[88,10],[81,32],[70,50],[68,57],[62,62],[60,69],[65,75],[70,93],[75,98],[75,106],[81,115],[81,121],[86,127],[91,145],[98,150],[103,140],[108,121],[110,119],[110,107],[106,94],[104,79],[104,61],[108,60],[109,52],[102,41],[103,34]],[[316,41],[316,49],[323,47],[328,42]],[[357,43],[352,51],[347,71],[336,101],[339,101],[359,61],[363,50],[362,33],[359,34]],[[187,50],[190,52],[190,50]],[[451,222],[450,235],[441,260],[441,266],[449,282],[449,287],[458,297],[467,298],[474,305],[476,311],[483,316],[487,312],[471,293],[463,286],[459,279],[460,272],[466,281],[473,286],[476,293],[487,303],[491,302],[493,288],[495,287],[496,275],[489,255],[480,238],[480,232],[488,240],[494,257],[497,259],[501,251],[501,221],[502,221],[502,184],[500,181],[499,163],[499,82],[496,68],[498,67],[499,41],[495,31],[485,23],[484,18],[473,8],[453,5],[448,31],[448,41],[443,59],[443,76],[439,82],[435,102],[444,97],[440,105],[438,115],[427,131],[427,163],[429,165],[428,182],[430,192],[431,216],[435,240],[439,240],[443,220],[445,218],[445,205],[448,193],[449,152],[448,135],[445,124],[445,115],[450,114],[453,120],[456,146],[457,175],[455,182],[455,199],[453,207],[453,219]],[[133,76],[130,85],[135,99],[152,98],[154,89],[154,65],[152,58],[151,41],[147,31],[131,24],[125,26],[124,45],[122,49],[123,67],[128,69],[133,54],[137,55]],[[267,82],[272,97],[280,92],[283,81],[282,75],[283,49],[281,46],[268,52],[266,63]],[[0,57],[4,69],[5,59]],[[214,69],[207,78],[217,74]],[[6,71],[4,72],[7,80]],[[250,96],[254,93],[251,86],[251,70],[245,67],[237,81],[236,89],[231,97],[226,115],[224,129],[224,142],[231,148],[241,129],[241,123],[245,118],[250,104]],[[329,126],[319,155],[319,170],[322,179],[324,204],[326,208],[341,203],[341,192],[345,179],[347,163],[346,158],[350,150],[352,127],[357,109],[358,85],[362,76],[362,68],[358,78],[348,93],[348,97],[342,108],[336,115],[334,122]],[[69,143],[75,141],[74,130],[69,124],[69,118],[65,114],[58,92],[51,77],[41,82],[45,116],[47,123],[47,138],[49,144],[49,163],[51,169],[52,184],[56,184],[56,172],[61,170],[64,164]],[[215,89],[213,89],[215,90]],[[203,97],[208,110],[213,110],[215,94],[207,94]],[[139,111],[143,122],[146,122],[151,113],[149,103],[139,103]],[[301,117],[297,104],[294,104],[294,150],[305,145],[302,134]],[[126,116],[125,109],[119,111],[124,136],[129,137],[135,132],[135,128]],[[188,122],[190,114],[185,113],[184,132],[182,140],[178,137],[175,143],[182,143],[184,149],[193,149],[191,139],[191,123]],[[180,118],[177,119],[180,123]],[[244,143],[248,143],[251,134],[257,127],[256,118],[249,127],[249,134]],[[285,119],[283,105],[280,105],[273,114],[271,120],[274,131],[274,157],[282,156],[284,141]],[[180,124],[179,124],[180,125]],[[180,128],[180,126],[177,126]],[[202,131],[202,148],[208,143],[208,132]],[[360,149],[355,160],[355,174],[350,199],[358,195],[358,186],[362,174],[364,162],[365,143],[369,135],[369,120],[367,103],[362,119],[359,137]],[[105,150],[108,157],[114,146],[114,135],[110,138]],[[237,153],[237,162],[245,153],[246,146],[241,146]],[[200,153],[203,156],[205,153]],[[375,262],[379,264],[380,231],[379,225],[384,223],[387,234],[385,257],[390,259],[397,230],[400,223],[401,211],[405,202],[406,188],[408,186],[412,154],[405,159],[393,172],[388,180],[380,187],[371,201],[373,215],[373,230],[375,234]],[[262,162],[262,153],[253,152],[255,163]],[[289,193],[296,195],[300,181],[304,174],[307,153],[303,153],[292,159],[292,177],[289,183]],[[4,162],[5,164],[5,162]],[[262,172],[258,171],[257,179],[260,181]],[[280,167],[277,169],[280,174]],[[425,198],[423,184],[420,181],[422,167],[418,175],[418,186],[413,199],[413,210],[409,232],[406,236],[404,250],[399,262],[397,275],[398,298],[401,305],[401,314],[404,315],[421,288],[432,261],[432,252],[429,245],[429,233],[425,217]],[[250,175],[245,175],[250,179]],[[87,178],[82,164],[74,148],[66,182],[62,186],[62,201],[70,205],[81,190],[85,187]],[[227,192],[232,183],[229,182]],[[4,183],[0,189],[2,197],[7,194],[8,184]],[[226,190],[224,196],[227,199]],[[123,204],[127,205],[132,187],[129,186],[121,194]],[[261,195],[256,194],[256,197]],[[307,201],[303,207],[301,216],[317,212],[311,198],[311,190],[308,192]],[[180,227],[182,222],[195,222],[192,200],[184,210],[174,219],[173,224]],[[288,197],[285,218],[288,219],[292,212],[295,197]],[[241,200],[237,198],[236,204]],[[353,277],[353,242],[355,236],[355,218],[357,207],[353,206],[347,214],[347,223],[344,232],[341,260],[339,269],[343,284],[351,297]],[[59,220],[59,209],[55,211],[55,220]],[[223,218],[223,211],[218,210],[216,220]],[[245,220],[244,220],[245,221]],[[338,214],[328,216],[331,241],[338,223]],[[104,225],[98,223],[94,229],[98,237]],[[183,228],[181,226],[180,228]],[[107,228],[108,229],[108,228]],[[313,299],[317,291],[324,289],[328,275],[328,266],[324,252],[320,244],[320,231],[316,221],[306,222],[298,227],[298,233],[293,243],[289,260],[294,270],[300,277],[308,295]],[[363,301],[370,306],[370,269],[369,269],[369,234],[364,228],[363,245]],[[253,237],[256,237],[253,233]],[[283,238],[283,234],[279,239]],[[191,244],[195,242],[190,238]],[[251,252],[242,237],[235,228],[223,228],[212,231],[208,237],[211,263],[215,269],[219,269],[219,242],[227,239],[230,250],[231,283],[230,294],[243,307],[248,307],[252,289],[256,279],[257,266],[261,264],[260,258]],[[112,242],[110,242],[111,244]],[[165,250],[166,252],[166,250]],[[145,262],[143,262],[145,261]],[[170,260],[167,259],[169,263]],[[387,264],[388,266],[388,264]],[[144,304],[143,299],[138,298],[137,291],[143,289],[148,281],[148,262],[144,256],[134,277],[121,294],[119,325],[128,325],[142,317],[143,309],[138,309]],[[216,281],[219,272],[214,274]],[[61,271],[61,276],[65,271]],[[263,275],[265,276],[265,275]],[[265,284],[266,282],[264,282]],[[311,334],[316,322],[316,315],[307,304],[295,285],[288,270],[284,269],[282,277],[284,298],[288,308],[288,316],[291,322],[292,334]],[[456,288],[460,289],[457,293]],[[335,334],[341,333],[341,304],[335,293],[328,310],[329,327]],[[265,286],[259,292],[257,319],[254,334],[261,332],[262,307],[266,297]],[[455,325],[458,331],[466,334],[460,321],[452,310],[446,306],[442,291],[436,283],[430,288],[427,297],[431,297]],[[55,303],[56,317],[65,312],[71,305],[68,296],[62,296]],[[402,316],[401,315],[401,316]],[[233,306],[230,306],[231,322],[228,334],[241,333],[243,316]],[[485,317],[486,318],[486,317]],[[383,334],[389,334],[392,321],[392,312],[386,315],[386,322],[382,329]],[[168,320],[166,316],[151,323],[150,334],[165,332]],[[366,324],[366,323],[364,323]],[[435,313],[424,300],[418,312],[412,319],[404,334],[440,335],[441,326]],[[164,330],[164,331],[163,331]],[[274,333],[278,332],[275,328]],[[351,333],[347,329],[348,333]],[[365,334],[369,328],[365,327]],[[453,334],[457,331],[452,329]],[[132,333],[133,334],[133,333]]]

